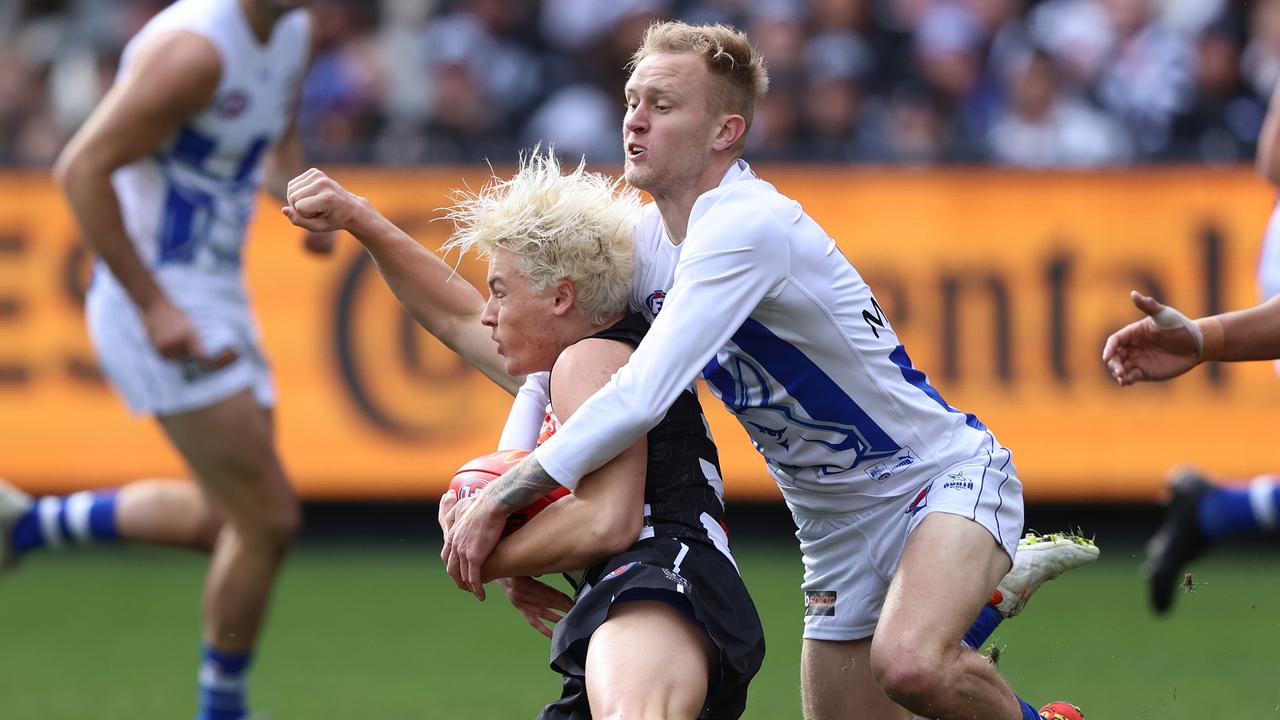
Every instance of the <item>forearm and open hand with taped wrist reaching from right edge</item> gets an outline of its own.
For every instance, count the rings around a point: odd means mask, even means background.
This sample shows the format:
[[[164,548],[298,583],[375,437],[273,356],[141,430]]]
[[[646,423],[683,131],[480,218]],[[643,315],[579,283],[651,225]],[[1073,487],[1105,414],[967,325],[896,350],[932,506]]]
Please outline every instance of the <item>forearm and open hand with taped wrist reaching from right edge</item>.
[[[1280,359],[1280,296],[1197,320],[1146,295],[1129,297],[1147,316],[1112,333],[1102,348],[1121,386],[1176,378],[1208,360]]]

